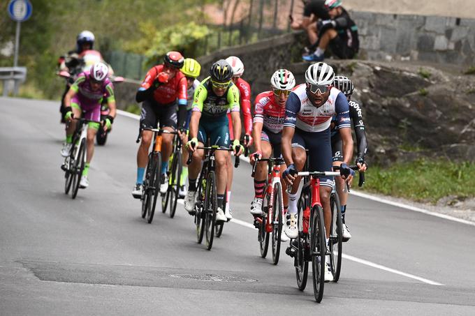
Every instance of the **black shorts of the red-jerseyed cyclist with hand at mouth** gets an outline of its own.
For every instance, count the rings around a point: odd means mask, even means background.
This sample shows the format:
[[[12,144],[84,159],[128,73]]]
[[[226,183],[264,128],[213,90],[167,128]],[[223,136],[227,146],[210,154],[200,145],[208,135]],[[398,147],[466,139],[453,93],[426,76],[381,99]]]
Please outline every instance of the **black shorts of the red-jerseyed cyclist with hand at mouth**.
[[[142,128],[171,127],[177,129],[177,104],[159,104],[155,101],[145,100],[140,112],[140,126]]]

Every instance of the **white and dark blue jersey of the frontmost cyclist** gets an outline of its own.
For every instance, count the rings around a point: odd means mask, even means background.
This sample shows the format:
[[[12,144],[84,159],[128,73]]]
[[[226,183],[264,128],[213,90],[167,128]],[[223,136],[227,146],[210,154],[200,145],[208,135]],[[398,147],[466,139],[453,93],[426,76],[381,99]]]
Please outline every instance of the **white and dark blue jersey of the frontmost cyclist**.
[[[351,128],[348,100],[341,91],[332,87],[326,103],[315,107],[306,89],[305,84],[300,84],[288,96],[284,127],[297,127],[311,133],[321,132],[330,127],[332,116],[335,115],[337,128]]]

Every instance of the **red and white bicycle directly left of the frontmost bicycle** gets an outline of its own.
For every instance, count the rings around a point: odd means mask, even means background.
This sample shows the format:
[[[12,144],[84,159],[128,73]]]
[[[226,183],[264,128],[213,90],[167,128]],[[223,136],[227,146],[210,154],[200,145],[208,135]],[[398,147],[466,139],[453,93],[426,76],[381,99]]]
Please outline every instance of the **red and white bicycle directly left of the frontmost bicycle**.
[[[268,253],[269,240],[272,239],[272,262],[279,263],[282,223],[284,218],[284,201],[282,200],[282,183],[280,167],[284,165],[283,158],[257,159],[252,167],[252,176],[256,173],[257,163],[268,162],[268,184],[263,198],[262,216],[254,216],[254,226],[258,230],[257,240],[261,257]]]

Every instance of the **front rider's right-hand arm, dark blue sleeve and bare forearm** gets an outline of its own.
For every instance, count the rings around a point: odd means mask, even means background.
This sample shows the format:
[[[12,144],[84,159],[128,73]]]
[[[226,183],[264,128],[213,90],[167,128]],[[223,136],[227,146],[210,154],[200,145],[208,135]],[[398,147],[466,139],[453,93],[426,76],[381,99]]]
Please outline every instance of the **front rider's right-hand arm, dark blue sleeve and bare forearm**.
[[[343,160],[347,165],[353,158],[353,137],[351,137],[351,120],[349,114],[349,104],[346,96],[340,92],[335,100],[335,111],[337,112],[337,128],[343,142]]]

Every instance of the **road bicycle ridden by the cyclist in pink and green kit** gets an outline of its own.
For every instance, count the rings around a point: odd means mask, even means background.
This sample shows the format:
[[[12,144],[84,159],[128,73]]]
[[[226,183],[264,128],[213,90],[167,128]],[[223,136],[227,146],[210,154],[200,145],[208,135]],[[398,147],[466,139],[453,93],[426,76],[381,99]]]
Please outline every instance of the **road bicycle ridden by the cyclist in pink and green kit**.
[[[69,156],[64,158],[64,163],[61,165],[61,170],[64,171],[64,193],[68,194],[71,187],[71,197],[73,199],[78,195],[79,183],[81,181],[82,171],[86,164],[86,148],[87,148],[87,128],[90,122],[98,123],[96,121],[89,121],[87,119],[75,119],[78,125],[73,133],[73,140]],[[100,127],[102,128],[102,126]]]

